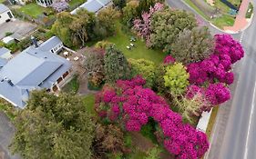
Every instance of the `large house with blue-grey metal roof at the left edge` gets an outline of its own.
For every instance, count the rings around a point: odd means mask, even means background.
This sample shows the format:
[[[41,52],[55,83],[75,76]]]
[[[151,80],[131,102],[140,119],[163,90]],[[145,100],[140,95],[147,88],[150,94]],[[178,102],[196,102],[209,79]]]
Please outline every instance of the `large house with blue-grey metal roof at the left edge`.
[[[60,90],[71,76],[71,64],[64,57],[53,54],[47,44],[56,44],[56,38],[50,38],[38,45],[29,46],[7,63],[0,61],[0,97],[24,108],[33,90],[46,89],[49,92]],[[53,45],[56,47],[56,45]],[[59,49],[59,48],[58,48]]]

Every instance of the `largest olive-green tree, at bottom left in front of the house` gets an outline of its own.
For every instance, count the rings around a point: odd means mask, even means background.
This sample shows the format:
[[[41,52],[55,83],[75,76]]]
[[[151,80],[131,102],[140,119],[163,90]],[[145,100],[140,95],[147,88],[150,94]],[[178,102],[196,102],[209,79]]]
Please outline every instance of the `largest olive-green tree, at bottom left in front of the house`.
[[[14,153],[27,159],[89,159],[94,123],[78,96],[36,91],[15,117]]]

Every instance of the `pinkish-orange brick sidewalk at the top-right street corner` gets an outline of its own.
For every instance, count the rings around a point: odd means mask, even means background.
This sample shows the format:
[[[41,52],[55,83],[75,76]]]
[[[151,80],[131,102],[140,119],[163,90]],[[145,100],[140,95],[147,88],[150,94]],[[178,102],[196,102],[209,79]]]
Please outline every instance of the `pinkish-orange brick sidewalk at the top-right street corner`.
[[[236,20],[233,26],[224,26],[224,30],[230,33],[238,33],[245,29],[250,22],[246,19],[247,8],[250,0],[242,0],[239,13],[236,16]]]

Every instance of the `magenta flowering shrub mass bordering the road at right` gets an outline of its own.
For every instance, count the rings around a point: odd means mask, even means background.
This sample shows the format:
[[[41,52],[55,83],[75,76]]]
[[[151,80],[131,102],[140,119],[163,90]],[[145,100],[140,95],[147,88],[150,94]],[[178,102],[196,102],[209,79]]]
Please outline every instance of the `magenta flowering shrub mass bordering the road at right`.
[[[230,72],[230,68],[244,55],[241,44],[230,35],[215,35],[215,42],[214,53],[209,58],[187,66],[190,84],[201,85],[216,81],[233,83],[234,75]]]

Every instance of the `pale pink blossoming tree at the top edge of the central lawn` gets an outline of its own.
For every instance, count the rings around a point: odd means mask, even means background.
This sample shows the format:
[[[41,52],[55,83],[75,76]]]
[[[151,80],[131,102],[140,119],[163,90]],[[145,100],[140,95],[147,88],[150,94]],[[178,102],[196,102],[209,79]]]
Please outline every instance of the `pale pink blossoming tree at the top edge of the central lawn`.
[[[164,8],[164,5],[161,3],[156,3],[153,7],[149,8],[148,13],[143,13],[141,15],[142,19],[135,19],[133,21],[133,29],[137,32],[138,36],[146,39],[147,46],[150,45],[150,19],[151,16]]]

